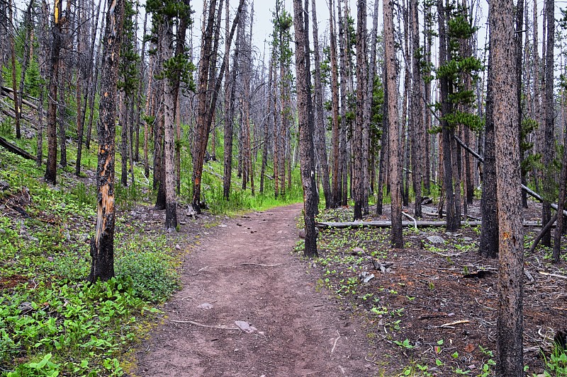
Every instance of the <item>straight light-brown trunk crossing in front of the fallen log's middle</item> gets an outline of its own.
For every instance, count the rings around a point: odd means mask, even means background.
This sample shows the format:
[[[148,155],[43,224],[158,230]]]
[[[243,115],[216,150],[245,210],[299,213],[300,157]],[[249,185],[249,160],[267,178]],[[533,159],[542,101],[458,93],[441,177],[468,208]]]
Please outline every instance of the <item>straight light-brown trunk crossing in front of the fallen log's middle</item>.
[[[402,234],[402,201],[401,201],[401,169],[400,169],[400,139],[398,137],[398,98],[396,98],[396,69],[395,44],[393,23],[393,0],[383,3],[384,16],[384,59],[386,61],[386,85],[388,86],[388,175],[391,184],[391,214],[392,235],[391,242],[394,248],[403,248]]]

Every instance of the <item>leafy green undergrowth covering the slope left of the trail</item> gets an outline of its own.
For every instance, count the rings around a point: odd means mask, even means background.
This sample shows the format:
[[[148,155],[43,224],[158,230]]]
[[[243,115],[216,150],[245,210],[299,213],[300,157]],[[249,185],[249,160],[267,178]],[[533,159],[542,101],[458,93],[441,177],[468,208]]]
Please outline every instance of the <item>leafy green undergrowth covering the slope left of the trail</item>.
[[[179,255],[164,234],[134,235],[118,216],[116,278],[87,284],[94,189],[62,172],[55,187],[42,177],[0,149],[9,185],[0,191],[0,376],[120,376],[125,347],[179,287]],[[135,190],[117,190],[117,206],[140,202]]]

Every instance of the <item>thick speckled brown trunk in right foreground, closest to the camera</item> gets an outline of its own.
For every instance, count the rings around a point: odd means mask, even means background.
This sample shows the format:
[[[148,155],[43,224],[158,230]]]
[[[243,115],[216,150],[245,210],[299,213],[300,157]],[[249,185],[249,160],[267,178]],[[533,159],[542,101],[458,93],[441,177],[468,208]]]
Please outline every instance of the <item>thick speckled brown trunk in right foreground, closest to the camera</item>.
[[[512,0],[490,3],[490,55],[500,257],[496,376],[524,376],[522,279],[524,234],[520,193],[520,145],[517,117],[515,41]],[[553,18],[553,15],[552,17]]]

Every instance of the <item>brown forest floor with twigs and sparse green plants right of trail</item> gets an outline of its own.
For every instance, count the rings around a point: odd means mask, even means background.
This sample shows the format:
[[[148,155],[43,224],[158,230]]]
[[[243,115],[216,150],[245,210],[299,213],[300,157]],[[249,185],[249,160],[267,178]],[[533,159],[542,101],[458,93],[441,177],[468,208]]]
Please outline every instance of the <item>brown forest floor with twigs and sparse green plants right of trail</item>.
[[[412,209],[405,211],[412,214]],[[389,215],[389,208],[385,212]],[[478,202],[469,213],[480,215]],[[541,204],[530,202],[524,219],[537,221],[540,214]],[[327,221],[352,218],[348,209],[325,216]],[[417,233],[405,228],[403,250],[391,248],[389,229],[324,230],[318,243],[324,259],[318,271],[325,285],[362,319],[369,339],[381,347],[391,344],[387,354],[406,370],[417,376],[454,376],[459,370],[481,376],[486,364],[488,376],[493,376],[489,360],[495,360],[491,352],[496,351],[498,260],[478,255],[479,229],[463,226],[458,233],[445,233],[444,228],[425,228]],[[525,228],[528,248],[540,229]],[[429,236],[441,236],[445,242],[433,245]],[[563,238],[563,245],[566,242]],[[527,274],[518,277],[524,279],[527,376],[543,373],[544,356],[549,361],[554,337],[557,340],[558,334],[564,337],[566,332],[567,258],[554,265],[549,253],[549,248],[541,246],[531,255],[526,253]],[[377,271],[372,260],[389,270]],[[374,274],[374,279],[360,284],[361,273]],[[349,279],[358,284],[349,286]],[[417,364],[427,371],[418,371]]]

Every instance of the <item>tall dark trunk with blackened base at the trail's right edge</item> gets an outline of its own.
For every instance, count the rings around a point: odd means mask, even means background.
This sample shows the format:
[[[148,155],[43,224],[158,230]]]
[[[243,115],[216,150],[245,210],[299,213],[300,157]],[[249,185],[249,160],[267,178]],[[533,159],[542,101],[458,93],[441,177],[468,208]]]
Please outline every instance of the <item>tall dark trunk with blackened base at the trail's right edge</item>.
[[[308,13],[308,0],[305,0],[305,13]],[[297,75],[297,110],[299,121],[299,143],[301,181],[303,183],[303,205],[305,221],[305,256],[317,256],[317,233],[315,233],[315,213],[317,211],[317,187],[315,184],[315,156],[313,145],[314,124],[310,115],[309,42],[308,18],[303,24],[303,6],[301,0],[293,0],[293,25],[296,30],[296,75]]]

